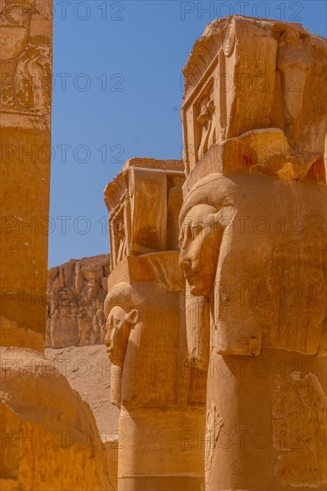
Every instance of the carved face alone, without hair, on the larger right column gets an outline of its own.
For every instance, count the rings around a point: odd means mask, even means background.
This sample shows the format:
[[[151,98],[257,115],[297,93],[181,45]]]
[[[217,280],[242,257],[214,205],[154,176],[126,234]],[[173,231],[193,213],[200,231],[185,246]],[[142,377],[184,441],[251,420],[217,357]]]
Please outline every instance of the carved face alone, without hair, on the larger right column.
[[[180,268],[189,282],[192,295],[208,296],[214,288],[222,234],[231,208],[227,206],[216,212],[213,206],[197,204],[183,221]]]

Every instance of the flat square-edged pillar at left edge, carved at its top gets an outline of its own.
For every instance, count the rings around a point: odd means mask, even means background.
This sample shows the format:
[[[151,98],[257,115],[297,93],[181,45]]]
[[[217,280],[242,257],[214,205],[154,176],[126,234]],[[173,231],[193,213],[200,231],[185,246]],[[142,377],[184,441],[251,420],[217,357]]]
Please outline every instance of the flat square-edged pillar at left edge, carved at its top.
[[[0,2],[1,345],[38,350],[46,326],[52,81],[52,16],[38,12],[41,4]]]

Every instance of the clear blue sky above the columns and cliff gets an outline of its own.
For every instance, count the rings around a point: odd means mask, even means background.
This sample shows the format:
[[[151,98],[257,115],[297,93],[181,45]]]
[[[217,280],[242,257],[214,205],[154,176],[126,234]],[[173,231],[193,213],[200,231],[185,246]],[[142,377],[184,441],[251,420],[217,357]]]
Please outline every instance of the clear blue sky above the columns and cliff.
[[[55,0],[49,267],[109,251],[103,190],[123,162],[180,158],[181,68],[230,13],[326,37],[324,0]]]

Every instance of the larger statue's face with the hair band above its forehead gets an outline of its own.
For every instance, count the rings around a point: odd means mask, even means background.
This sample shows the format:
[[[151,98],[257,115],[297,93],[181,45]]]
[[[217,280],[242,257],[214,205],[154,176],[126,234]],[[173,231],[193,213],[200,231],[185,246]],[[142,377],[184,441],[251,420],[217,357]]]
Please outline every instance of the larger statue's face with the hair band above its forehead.
[[[220,174],[201,179],[180,211],[180,268],[192,295],[213,291],[222,236],[235,214],[231,185]]]

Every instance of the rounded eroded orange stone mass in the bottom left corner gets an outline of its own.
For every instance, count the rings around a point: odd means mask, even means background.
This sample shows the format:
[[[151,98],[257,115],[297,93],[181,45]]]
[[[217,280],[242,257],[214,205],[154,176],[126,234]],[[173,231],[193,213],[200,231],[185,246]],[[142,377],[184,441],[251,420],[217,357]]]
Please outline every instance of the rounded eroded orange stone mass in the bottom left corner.
[[[1,348],[1,359],[1,484],[18,491],[114,489],[114,456],[88,404],[55,365],[23,348]]]

